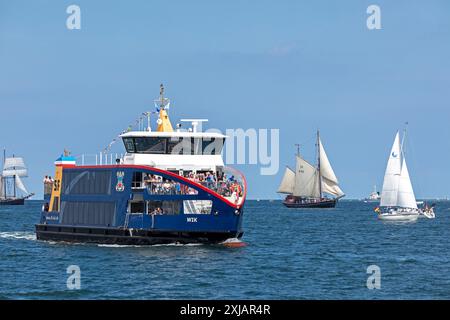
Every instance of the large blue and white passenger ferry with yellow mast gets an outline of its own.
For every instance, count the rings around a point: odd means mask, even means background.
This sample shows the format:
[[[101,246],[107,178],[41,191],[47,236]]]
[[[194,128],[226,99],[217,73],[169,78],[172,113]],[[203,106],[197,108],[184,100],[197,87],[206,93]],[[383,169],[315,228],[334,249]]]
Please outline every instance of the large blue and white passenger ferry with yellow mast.
[[[121,134],[126,153],[115,163],[78,165],[68,152],[56,160],[37,239],[153,245],[242,237],[247,185],[224,165],[226,136],[199,130],[204,119],[174,130],[169,105],[161,85],[156,131],[149,116],[146,129]]]

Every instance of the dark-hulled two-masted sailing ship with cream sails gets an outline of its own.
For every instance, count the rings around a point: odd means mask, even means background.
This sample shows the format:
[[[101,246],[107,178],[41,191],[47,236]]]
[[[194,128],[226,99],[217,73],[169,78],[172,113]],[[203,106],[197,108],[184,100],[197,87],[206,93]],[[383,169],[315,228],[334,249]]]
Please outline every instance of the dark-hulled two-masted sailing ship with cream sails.
[[[316,147],[316,165],[306,161],[297,150],[295,171],[286,167],[277,192],[287,194],[283,204],[288,208],[334,208],[345,196],[325,153],[319,131]]]

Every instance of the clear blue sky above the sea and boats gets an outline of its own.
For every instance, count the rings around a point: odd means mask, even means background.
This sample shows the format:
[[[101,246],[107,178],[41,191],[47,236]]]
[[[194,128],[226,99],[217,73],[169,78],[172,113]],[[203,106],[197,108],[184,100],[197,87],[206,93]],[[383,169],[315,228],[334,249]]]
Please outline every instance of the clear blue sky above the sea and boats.
[[[70,4],[81,30],[66,28]],[[382,30],[366,27],[370,4]],[[445,0],[0,0],[0,146],[26,158],[41,195],[64,148],[102,150],[162,82],[173,122],[280,129],[278,175],[237,166],[250,198],[278,198],[294,144],[312,158],[317,128],[343,190],[363,197],[406,121],[417,196],[450,196],[449,39]]]

